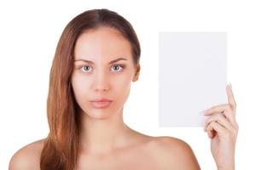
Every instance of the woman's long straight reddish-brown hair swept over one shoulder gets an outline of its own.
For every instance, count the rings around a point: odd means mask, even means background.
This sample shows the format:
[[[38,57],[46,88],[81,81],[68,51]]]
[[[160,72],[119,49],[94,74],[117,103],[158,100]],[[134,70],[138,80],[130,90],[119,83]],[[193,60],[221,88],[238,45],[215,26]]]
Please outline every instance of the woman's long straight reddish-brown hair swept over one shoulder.
[[[74,46],[81,33],[108,26],[118,30],[131,43],[134,63],[141,48],[130,22],[118,13],[102,9],[87,10],[71,20],[61,34],[49,74],[47,117],[49,134],[40,157],[42,170],[73,170],[79,155],[79,105],[71,86]]]

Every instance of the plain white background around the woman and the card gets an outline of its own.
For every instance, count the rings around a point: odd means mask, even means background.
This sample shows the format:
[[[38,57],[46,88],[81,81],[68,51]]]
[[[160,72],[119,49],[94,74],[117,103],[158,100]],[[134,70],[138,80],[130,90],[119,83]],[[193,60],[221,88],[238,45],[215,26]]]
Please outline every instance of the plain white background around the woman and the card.
[[[57,41],[67,23],[90,8],[123,15],[141,42],[142,69],[125,104],[126,124],[149,135],[183,139],[206,170],[216,166],[202,127],[158,127],[158,31],[226,31],[227,76],[240,125],[236,169],[255,169],[256,5],[247,0],[1,1],[0,169],[8,169],[15,151],[46,137],[49,69]]]

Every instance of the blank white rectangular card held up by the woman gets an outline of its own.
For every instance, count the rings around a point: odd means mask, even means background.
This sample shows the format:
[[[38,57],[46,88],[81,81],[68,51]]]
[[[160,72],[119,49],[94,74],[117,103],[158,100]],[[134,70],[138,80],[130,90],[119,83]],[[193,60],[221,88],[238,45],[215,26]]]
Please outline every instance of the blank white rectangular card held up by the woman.
[[[159,33],[160,127],[202,127],[226,84],[225,32]]]

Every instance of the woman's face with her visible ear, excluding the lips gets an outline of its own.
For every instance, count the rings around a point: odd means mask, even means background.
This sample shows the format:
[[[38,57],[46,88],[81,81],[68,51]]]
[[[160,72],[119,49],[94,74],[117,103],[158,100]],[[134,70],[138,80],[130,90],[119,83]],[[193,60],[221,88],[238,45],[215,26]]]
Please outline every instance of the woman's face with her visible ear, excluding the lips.
[[[139,64],[133,63],[130,42],[113,28],[88,30],[75,44],[74,60],[71,83],[83,112],[98,119],[118,114],[140,70]],[[112,102],[104,108],[91,102],[102,98]]]

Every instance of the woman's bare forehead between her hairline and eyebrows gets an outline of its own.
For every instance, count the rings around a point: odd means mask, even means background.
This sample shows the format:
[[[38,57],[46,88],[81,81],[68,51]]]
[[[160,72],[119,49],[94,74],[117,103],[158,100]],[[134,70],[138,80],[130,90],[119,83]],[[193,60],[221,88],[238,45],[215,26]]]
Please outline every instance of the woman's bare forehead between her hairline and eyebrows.
[[[86,57],[87,59],[107,60],[117,57],[130,58],[131,44],[112,28],[86,31],[79,36],[76,42],[74,57],[75,59]]]

